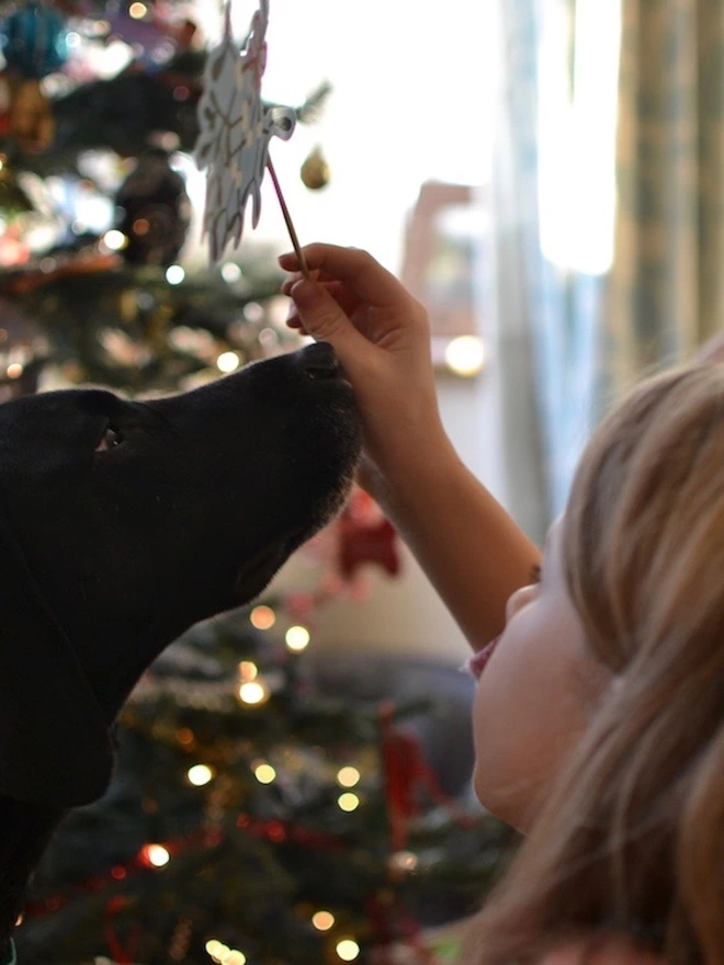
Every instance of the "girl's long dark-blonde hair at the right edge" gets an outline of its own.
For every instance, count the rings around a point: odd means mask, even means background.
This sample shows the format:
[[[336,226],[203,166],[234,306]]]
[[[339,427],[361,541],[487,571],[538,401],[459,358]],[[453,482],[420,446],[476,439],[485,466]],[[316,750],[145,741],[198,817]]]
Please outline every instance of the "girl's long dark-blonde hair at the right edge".
[[[615,933],[724,965],[724,365],[665,373],[606,419],[563,557],[611,683],[464,961]]]

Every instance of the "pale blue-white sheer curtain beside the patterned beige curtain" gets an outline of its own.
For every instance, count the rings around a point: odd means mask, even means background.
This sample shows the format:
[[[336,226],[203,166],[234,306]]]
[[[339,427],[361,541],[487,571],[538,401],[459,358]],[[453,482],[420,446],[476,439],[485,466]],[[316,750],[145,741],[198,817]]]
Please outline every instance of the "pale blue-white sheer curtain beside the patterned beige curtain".
[[[541,541],[597,411],[618,0],[496,0],[491,342],[506,503]],[[648,0],[645,0],[648,2]]]

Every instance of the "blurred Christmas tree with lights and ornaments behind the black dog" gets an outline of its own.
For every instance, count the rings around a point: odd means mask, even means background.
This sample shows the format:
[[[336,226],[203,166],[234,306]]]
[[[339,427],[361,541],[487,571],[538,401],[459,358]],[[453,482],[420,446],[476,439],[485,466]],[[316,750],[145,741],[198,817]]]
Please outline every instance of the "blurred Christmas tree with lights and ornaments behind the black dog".
[[[208,269],[186,251],[206,59],[188,13],[21,0],[0,16],[0,401],[173,391],[296,348],[272,252]],[[305,183],[327,177],[313,155]],[[304,652],[360,566],[396,574],[394,531],[358,493],[319,538],[312,591],[193,628],[142,681],[109,793],[38,869],[21,962],[428,962],[421,928],[475,907],[510,833],[451,799],[400,729],[430,706],[332,693]]]

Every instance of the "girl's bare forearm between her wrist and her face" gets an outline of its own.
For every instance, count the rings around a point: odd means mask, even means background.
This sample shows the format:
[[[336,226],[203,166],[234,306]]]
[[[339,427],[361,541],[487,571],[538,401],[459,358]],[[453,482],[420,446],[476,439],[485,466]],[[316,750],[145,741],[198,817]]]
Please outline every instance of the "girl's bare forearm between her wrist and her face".
[[[530,582],[540,550],[450,443],[396,475],[373,495],[477,650],[502,632],[508,598]]]

